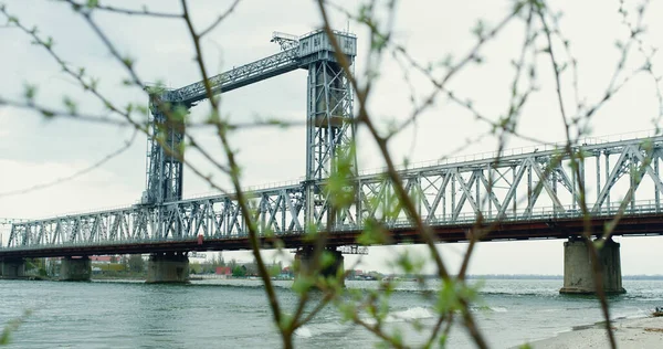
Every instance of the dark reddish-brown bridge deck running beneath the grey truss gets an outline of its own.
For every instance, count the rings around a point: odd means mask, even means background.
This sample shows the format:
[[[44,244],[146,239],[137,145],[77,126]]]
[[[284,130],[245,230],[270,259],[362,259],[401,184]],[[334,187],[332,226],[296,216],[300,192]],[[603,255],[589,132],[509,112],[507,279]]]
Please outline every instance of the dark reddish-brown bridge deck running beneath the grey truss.
[[[613,218],[598,216],[590,220],[592,235],[600,236],[606,224]],[[579,218],[541,219],[529,222],[494,222],[492,224],[476,225],[472,223],[432,226],[435,240],[439,242],[455,243],[469,241],[467,233],[472,229],[490,229],[490,233],[481,241],[505,240],[534,240],[534,239],[568,239],[581,235],[585,222]],[[417,244],[423,243],[421,234],[412,228],[385,228],[386,244]],[[329,246],[344,246],[356,244],[360,234],[357,230],[337,230],[328,233]],[[623,216],[613,231],[613,235],[663,235],[663,215],[639,214]],[[273,248],[275,240],[281,240],[288,248],[296,248],[311,244],[309,239],[301,232],[283,234],[277,237],[260,237],[264,248]],[[85,244],[72,243],[59,246],[31,246],[20,248],[0,248],[0,258],[8,257],[56,257],[78,255],[106,255],[106,254],[136,254],[172,251],[239,251],[250,250],[248,236],[222,239],[170,239],[161,241],[120,241],[114,244]]]

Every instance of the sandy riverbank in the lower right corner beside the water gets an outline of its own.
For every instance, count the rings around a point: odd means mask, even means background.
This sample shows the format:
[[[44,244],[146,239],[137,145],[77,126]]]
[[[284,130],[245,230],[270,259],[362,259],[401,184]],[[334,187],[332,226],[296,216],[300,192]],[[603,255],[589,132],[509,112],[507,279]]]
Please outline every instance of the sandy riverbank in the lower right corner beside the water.
[[[611,325],[620,349],[661,348],[663,343],[663,317],[618,319]],[[610,342],[604,327],[596,324],[534,341],[530,346],[533,349],[609,348]]]

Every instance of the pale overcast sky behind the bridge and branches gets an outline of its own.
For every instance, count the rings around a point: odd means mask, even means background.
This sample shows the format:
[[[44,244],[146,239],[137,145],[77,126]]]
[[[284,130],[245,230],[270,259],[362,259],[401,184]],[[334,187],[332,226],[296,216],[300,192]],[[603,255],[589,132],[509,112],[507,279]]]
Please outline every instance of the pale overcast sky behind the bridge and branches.
[[[230,1],[190,1],[198,28],[206,28],[223,12]],[[512,1],[407,1],[400,4],[394,38],[420,62],[439,62],[448,54],[461,56],[474,44],[471,29],[478,18],[488,25],[502,19]],[[632,1],[625,1],[633,8]],[[43,0],[4,0],[7,10],[27,27],[38,25],[40,33],[52,36],[57,51],[74,66],[101,80],[101,89],[117,105],[146,103],[138,88],[126,88],[122,81],[126,74],[94,35],[90,27],[69,6]],[[147,1],[150,9],[179,12],[179,1]],[[339,1],[356,12],[355,1]],[[135,1],[117,1],[114,6],[140,8]],[[571,43],[578,60],[578,81],[581,97],[589,102],[601,97],[619,60],[617,40],[628,35],[618,13],[619,1],[552,1],[565,12],[560,25]],[[663,46],[663,13],[661,2],[651,4],[644,36],[649,45]],[[193,46],[182,21],[125,17],[96,13],[110,40],[123,54],[136,60],[136,70],[146,82],[164,82],[179,87],[200,80],[193,62]],[[0,21],[2,23],[2,21]],[[273,31],[304,34],[320,25],[320,17],[313,1],[242,1],[236,11],[202,41],[204,59],[212,72],[222,72],[278,52],[270,42]],[[1,25],[1,24],[0,24]],[[336,15],[334,25],[348,28],[343,15]],[[365,72],[368,34],[364,28],[349,22],[357,33],[359,54],[356,72]],[[497,40],[482,51],[486,63],[461,73],[451,86],[463,98],[472,98],[475,107],[497,119],[508,106],[513,68],[509,61],[519,53],[523,41],[520,22],[506,28]],[[39,86],[38,101],[62,106],[64,95],[78,102],[82,109],[103,114],[103,106],[76,83],[63,75],[43,49],[31,45],[31,40],[17,29],[0,27],[0,97],[19,101],[24,84]],[[633,55],[627,70],[642,61]],[[654,59],[654,70],[661,74],[663,60]],[[534,95],[524,110],[518,131],[547,141],[564,140],[561,118],[554,97],[554,81],[549,62],[541,61],[539,84],[541,91]],[[544,74],[545,73],[545,74]],[[415,94],[423,96],[430,84],[411,73]],[[375,86],[369,109],[383,125],[402,120],[411,112],[410,87],[403,82],[403,72],[390,57],[380,68],[380,81]],[[565,82],[567,87],[570,81]],[[570,96],[570,95],[569,95]],[[256,117],[277,117],[303,121],[305,118],[306,72],[296,71],[223,95],[222,110],[233,121],[250,121]],[[203,117],[203,106],[192,109],[194,118]],[[659,105],[651,77],[635,76],[624,89],[593,118],[592,135],[604,136],[649,130],[659,115]],[[660,126],[660,125],[659,125]],[[413,162],[449,156],[467,139],[488,130],[463,108],[440,99],[424,113],[412,127],[403,129],[391,144],[394,159],[408,158]],[[55,119],[45,120],[40,115],[10,107],[0,107],[0,192],[48,183],[84,169],[130,139],[133,131],[126,127],[94,125]],[[211,129],[196,135],[207,149],[221,158],[221,151]],[[357,135],[359,167],[380,167],[377,148],[366,131]],[[628,136],[625,137],[628,138]],[[233,135],[235,149],[244,169],[245,186],[298,180],[305,171],[304,127],[281,129],[240,130]],[[485,138],[472,141],[459,154],[494,150],[496,140]],[[508,147],[529,145],[513,138]],[[103,167],[74,180],[34,190],[20,195],[0,197],[0,218],[42,218],[66,212],[84,212],[101,208],[122,207],[139,200],[145,189],[146,137],[139,135],[130,148]],[[206,171],[211,167],[194,154],[187,157]],[[227,184],[218,173],[214,177]],[[185,195],[210,192],[210,188],[192,172],[185,172]],[[3,243],[8,234],[3,234]],[[622,271],[624,274],[661,274],[663,262],[661,237],[618,239],[622,243]],[[372,247],[365,257],[365,269],[388,272],[387,256],[404,247]],[[413,252],[424,251],[411,246]],[[443,256],[457,267],[465,244],[441,245]],[[224,253],[225,258],[250,260],[246,253]],[[562,241],[492,242],[481,244],[471,265],[474,274],[562,274]],[[346,260],[346,265],[354,257]]]

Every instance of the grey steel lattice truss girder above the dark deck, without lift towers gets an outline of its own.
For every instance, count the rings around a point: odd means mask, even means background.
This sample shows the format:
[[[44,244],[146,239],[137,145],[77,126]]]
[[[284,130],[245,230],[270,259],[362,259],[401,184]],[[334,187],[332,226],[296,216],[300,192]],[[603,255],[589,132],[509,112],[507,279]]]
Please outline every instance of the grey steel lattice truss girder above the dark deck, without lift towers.
[[[634,194],[625,207],[627,216],[660,213],[663,137],[648,141],[646,147],[642,144],[634,139],[581,147],[585,156],[578,160],[580,176],[571,170],[568,155],[559,157],[556,150],[504,156],[498,161],[486,158],[435,165],[403,170],[400,176],[419,214],[430,225],[465,224],[480,216],[485,222],[580,218],[579,182],[588,189],[592,215],[613,215],[629,191]],[[587,176],[589,172],[593,176]],[[315,184],[324,192],[324,180]],[[367,220],[387,228],[411,226],[387,176],[359,176],[354,187],[354,203],[336,213],[333,226],[327,226],[329,198],[323,195],[313,216],[320,231],[361,230]],[[259,232],[303,234],[307,188],[302,183],[251,192],[249,205]],[[194,240],[198,235],[233,239],[246,234],[234,197],[218,195],[14,223],[8,247]]]

